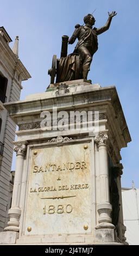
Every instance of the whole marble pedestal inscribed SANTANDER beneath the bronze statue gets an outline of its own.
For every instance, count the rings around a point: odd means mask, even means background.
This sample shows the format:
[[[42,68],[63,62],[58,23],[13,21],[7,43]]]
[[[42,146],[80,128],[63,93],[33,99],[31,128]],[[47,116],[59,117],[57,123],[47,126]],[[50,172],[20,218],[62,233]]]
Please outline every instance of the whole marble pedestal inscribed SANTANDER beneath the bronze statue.
[[[115,86],[65,82],[5,107],[19,130],[1,243],[124,244],[119,162],[131,139]]]

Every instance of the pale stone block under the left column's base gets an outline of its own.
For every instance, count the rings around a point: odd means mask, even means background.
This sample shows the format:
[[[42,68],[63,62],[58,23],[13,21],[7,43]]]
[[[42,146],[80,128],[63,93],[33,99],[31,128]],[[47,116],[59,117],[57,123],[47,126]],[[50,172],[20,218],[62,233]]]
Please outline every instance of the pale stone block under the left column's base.
[[[0,244],[1,245],[11,245],[15,244],[18,239],[18,232],[15,231],[6,231],[0,232]]]

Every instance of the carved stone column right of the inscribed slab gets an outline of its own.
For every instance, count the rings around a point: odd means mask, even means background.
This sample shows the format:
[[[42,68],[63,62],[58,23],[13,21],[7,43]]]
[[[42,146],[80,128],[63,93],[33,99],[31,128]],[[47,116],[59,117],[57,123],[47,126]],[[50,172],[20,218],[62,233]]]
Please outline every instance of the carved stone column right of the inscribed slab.
[[[99,181],[100,181],[100,202],[98,204],[97,210],[99,213],[98,222],[96,229],[111,228],[115,226],[111,224],[111,211],[112,206],[110,204],[110,192],[109,192],[109,168],[108,168],[108,153],[107,145],[108,135],[99,132],[99,134],[94,137],[94,142],[96,142],[99,150]]]

